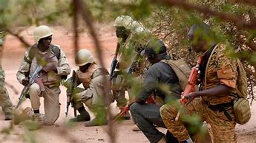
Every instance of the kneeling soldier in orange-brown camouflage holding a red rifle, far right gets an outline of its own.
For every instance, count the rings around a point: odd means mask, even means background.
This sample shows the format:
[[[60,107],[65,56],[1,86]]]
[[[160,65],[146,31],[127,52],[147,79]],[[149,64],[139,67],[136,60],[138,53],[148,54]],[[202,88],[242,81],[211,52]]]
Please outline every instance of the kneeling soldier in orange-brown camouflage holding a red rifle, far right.
[[[214,43],[214,34],[207,24],[194,24],[188,35],[194,51],[204,52],[200,66],[202,88],[185,95],[188,102],[178,121],[175,117],[180,102],[160,108],[163,122],[180,142],[191,142],[184,122],[197,115],[211,125],[214,142],[237,142],[233,110],[233,102],[237,100],[237,60],[226,55],[225,44]]]

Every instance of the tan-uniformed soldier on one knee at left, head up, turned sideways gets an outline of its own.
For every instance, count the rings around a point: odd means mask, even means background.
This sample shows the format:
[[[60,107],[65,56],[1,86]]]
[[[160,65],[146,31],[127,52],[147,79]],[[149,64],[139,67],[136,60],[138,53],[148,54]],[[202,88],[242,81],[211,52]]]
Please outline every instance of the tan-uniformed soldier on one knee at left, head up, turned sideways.
[[[33,83],[28,91],[33,113],[27,112],[27,116],[29,119],[39,122],[40,125],[53,125],[59,118],[59,86],[61,80],[70,74],[70,67],[65,53],[59,46],[51,43],[52,35],[51,29],[45,25],[36,27],[33,30],[35,43],[25,52],[16,74],[19,83],[27,86],[29,77],[33,74],[36,66],[43,66],[40,77],[45,91],[41,91],[42,88],[38,83]],[[40,114],[39,111],[41,105],[40,97],[44,98],[45,115]],[[19,124],[19,122],[22,121],[16,120],[15,124]]]

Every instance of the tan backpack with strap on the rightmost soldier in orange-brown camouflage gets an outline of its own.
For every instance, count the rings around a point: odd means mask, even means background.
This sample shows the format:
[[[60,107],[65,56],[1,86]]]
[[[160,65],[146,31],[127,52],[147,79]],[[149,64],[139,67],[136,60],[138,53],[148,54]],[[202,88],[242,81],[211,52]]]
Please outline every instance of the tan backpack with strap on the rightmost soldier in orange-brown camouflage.
[[[214,53],[214,50],[217,49],[218,46],[220,46],[220,43],[214,47],[214,49],[211,52],[211,55]],[[211,55],[209,57],[209,60],[211,58]],[[208,63],[207,63],[207,66],[208,66]],[[207,69],[207,66],[206,66],[206,69]],[[243,69],[243,65],[239,59],[237,59],[237,74],[238,74],[238,77],[237,77],[236,91],[237,91],[238,99],[234,100],[233,109],[234,109],[234,116],[236,118],[236,122],[240,125],[243,125],[243,124],[246,124],[246,122],[248,122],[249,119],[251,118],[251,110],[250,110],[249,101],[246,99],[248,95],[246,71]],[[205,77],[205,81],[206,81],[206,77]]]

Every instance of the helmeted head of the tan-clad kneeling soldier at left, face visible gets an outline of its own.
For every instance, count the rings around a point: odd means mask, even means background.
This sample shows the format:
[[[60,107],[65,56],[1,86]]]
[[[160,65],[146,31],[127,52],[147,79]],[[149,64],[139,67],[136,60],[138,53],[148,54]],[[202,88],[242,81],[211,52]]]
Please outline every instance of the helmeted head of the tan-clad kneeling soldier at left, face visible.
[[[45,51],[50,47],[53,32],[46,25],[41,25],[33,30],[33,38],[38,43],[39,49]]]

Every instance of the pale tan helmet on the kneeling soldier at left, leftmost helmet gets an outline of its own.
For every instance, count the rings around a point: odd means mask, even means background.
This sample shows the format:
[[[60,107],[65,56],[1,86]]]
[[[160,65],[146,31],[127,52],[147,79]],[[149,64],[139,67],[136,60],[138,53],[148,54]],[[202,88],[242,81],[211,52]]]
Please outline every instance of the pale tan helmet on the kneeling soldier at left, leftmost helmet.
[[[41,38],[46,38],[50,35],[53,35],[53,32],[46,25],[36,27],[33,31],[33,37],[36,43],[39,42]]]

